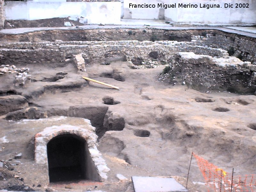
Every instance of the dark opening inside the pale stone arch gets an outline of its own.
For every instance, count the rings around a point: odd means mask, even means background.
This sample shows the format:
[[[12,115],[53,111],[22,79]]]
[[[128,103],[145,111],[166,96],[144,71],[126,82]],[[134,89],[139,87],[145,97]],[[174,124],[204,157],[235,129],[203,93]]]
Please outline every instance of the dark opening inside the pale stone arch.
[[[72,135],[58,135],[47,144],[50,182],[86,178],[86,142]]]

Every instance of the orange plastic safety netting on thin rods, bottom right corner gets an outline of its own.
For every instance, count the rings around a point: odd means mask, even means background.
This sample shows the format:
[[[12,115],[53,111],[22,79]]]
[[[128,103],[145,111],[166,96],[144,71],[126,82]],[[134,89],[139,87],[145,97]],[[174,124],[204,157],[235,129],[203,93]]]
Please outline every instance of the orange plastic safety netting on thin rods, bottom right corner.
[[[195,153],[193,156],[196,158],[197,165],[211,191],[228,192],[231,191],[232,185],[234,192],[256,192],[256,175],[234,175],[232,182],[232,173],[225,172]]]

